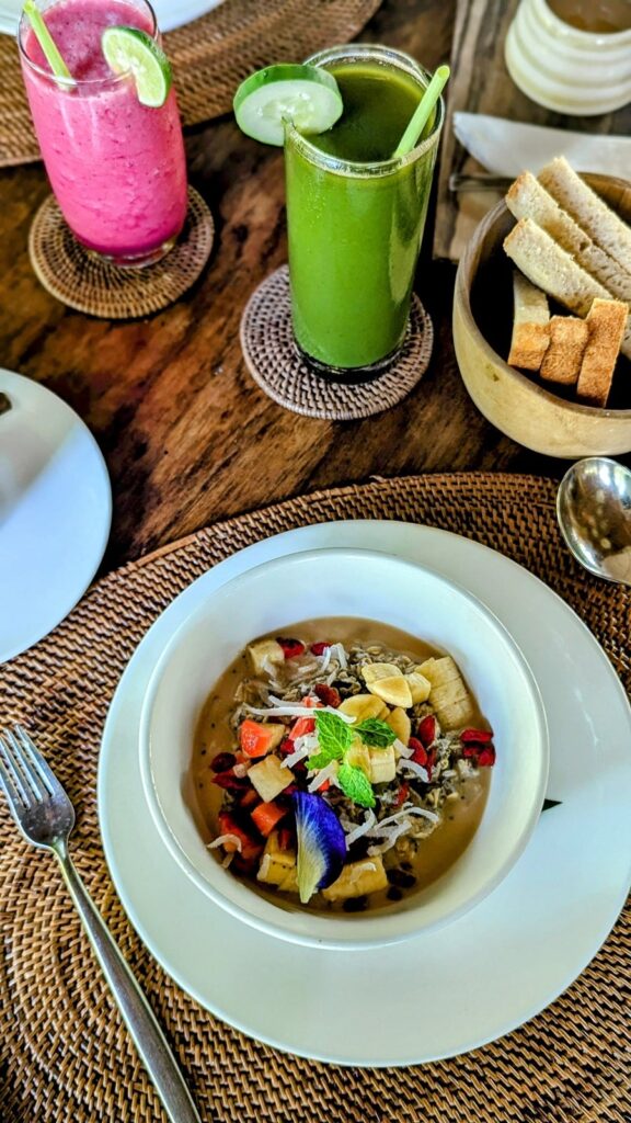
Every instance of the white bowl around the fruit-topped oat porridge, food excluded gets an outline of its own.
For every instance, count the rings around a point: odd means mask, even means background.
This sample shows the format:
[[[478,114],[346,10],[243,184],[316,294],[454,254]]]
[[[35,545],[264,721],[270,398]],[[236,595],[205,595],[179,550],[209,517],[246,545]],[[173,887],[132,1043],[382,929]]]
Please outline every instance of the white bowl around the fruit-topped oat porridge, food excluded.
[[[276,905],[222,869],[202,841],[183,788],[201,709],[236,655],[265,632],[336,615],[392,624],[452,655],[493,727],[497,763],[476,834],[442,877],[392,911],[324,916]],[[474,596],[430,569],[385,554],[313,550],[268,562],[210,592],[177,629],[144,701],[140,770],[165,844],[207,896],[282,939],[360,948],[445,924],[499,885],[538,821],[548,738],[539,690],[523,656]]]

